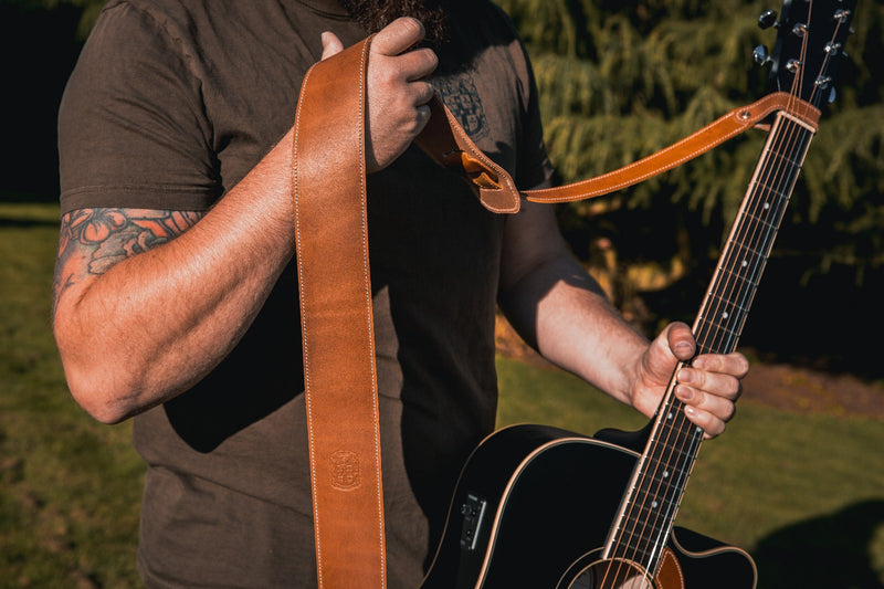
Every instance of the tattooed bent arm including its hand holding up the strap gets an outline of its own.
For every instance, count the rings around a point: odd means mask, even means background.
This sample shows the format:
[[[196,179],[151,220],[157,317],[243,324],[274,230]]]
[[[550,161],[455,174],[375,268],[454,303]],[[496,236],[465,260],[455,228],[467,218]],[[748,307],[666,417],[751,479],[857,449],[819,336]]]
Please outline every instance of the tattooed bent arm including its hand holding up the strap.
[[[436,65],[413,19],[378,33],[368,66],[367,164],[377,171],[429,119]],[[323,36],[326,59],[340,51]],[[114,423],[210,372],[250,327],[294,255],[293,130],[204,213],[67,213],[55,272],[54,333],[80,404]]]

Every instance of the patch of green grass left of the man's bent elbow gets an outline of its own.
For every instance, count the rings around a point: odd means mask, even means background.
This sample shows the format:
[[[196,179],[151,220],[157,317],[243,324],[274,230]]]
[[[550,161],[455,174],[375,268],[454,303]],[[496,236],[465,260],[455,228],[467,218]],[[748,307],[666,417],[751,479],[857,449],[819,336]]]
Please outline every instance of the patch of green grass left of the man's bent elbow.
[[[130,428],[71,400],[52,341],[57,219],[0,203],[0,587],[138,587]]]

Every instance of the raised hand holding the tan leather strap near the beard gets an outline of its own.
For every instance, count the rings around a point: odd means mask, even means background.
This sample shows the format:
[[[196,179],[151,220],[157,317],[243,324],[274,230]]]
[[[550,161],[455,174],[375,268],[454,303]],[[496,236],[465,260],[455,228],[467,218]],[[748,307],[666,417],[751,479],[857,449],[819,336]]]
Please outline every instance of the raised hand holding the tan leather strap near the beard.
[[[420,21],[400,18],[371,41],[368,55],[366,165],[382,170],[401,156],[430,120],[433,86],[424,78],[439,63],[430,49],[408,51],[423,39]],[[343,51],[334,33],[323,33],[323,60]]]

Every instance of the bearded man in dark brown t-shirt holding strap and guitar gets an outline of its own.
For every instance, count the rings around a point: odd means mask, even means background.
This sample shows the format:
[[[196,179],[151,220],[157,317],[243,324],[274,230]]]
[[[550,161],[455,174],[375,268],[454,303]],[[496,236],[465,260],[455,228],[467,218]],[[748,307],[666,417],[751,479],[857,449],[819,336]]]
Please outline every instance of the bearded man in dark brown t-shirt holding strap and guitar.
[[[113,0],[69,83],[54,329],[77,402],[103,422],[134,417],[148,587],[315,586],[291,129],[307,67],[368,31],[391,587],[420,585],[457,471],[494,425],[498,303],[547,358],[646,416],[694,354],[684,325],[649,345],[620,318],[549,208],[494,215],[411,146],[438,92],[520,187],[549,181],[530,69],[498,9],[344,4]],[[448,36],[412,49],[424,28],[402,14]],[[682,370],[707,435],[747,369],[733,354]]]

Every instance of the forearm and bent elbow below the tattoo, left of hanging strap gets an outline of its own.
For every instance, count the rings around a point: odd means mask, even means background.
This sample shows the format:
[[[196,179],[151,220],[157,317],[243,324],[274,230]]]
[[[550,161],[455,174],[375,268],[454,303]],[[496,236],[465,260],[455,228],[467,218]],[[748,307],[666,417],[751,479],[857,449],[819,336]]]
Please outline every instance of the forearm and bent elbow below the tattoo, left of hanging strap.
[[[97,419],[175,397],[249,328],[293,255],[290,147],[291,135],[162,245],[97,274],[60,256],[56,340],[72,393]]]

